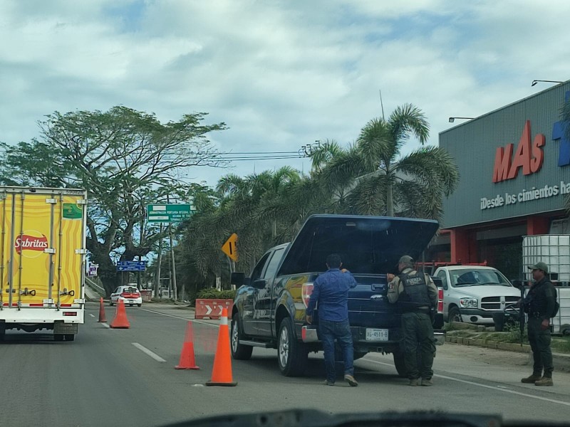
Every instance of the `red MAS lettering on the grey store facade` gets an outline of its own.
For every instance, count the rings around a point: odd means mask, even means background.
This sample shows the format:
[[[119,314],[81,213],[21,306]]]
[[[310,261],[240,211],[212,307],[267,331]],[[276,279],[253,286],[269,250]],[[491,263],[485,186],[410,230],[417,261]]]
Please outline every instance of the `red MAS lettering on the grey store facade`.
[[[514,152],[514,144],[507,147],[498,147],[494,154],[493,182],[506,181],[517,178],[519,169],[524,175],[539,172],[544,162],[542,147],[546,143],[544,134],[537,134],[531,139],[530,120],[524,123],[521,139]]]

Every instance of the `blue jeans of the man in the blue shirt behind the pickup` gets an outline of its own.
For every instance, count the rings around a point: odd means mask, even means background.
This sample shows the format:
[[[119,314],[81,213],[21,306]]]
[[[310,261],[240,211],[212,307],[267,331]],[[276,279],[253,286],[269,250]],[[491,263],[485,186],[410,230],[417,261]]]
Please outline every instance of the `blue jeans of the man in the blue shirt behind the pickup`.
[[[354,347],[352,343],[351,325],[347,320],[334,322],[333,320],[318,320],[318,332],[323,342],[323,350],[325,352],[325,369],[326,379],[334,382],[336,372],[334,369],[334,340],[338,341],[341,346],[344,358],[344,374],[354,375],[353,359]]]

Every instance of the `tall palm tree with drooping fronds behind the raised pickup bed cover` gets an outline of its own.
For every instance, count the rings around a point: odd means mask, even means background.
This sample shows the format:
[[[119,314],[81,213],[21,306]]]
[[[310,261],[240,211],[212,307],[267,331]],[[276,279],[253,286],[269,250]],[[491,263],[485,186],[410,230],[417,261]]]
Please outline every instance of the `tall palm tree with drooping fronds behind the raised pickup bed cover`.
[[[333,191],[343,211],[440,218],[442,197],[459,181],[452,157],[439,147],[401,153],[411,135],[425,144],[429,130],[418,107],[402,105],[388,120],[368,122],[348,149],[323,144],[312,156],[314,174]]]

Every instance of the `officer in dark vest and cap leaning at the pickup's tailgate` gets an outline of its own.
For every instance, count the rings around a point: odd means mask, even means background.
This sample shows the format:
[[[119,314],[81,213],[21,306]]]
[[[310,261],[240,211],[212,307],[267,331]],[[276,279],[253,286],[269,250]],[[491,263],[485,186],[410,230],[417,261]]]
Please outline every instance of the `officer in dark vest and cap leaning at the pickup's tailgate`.
[[[429,275],[413,270],[413,258],[404,255],[398,262],[400,275],[388,274],[388,301],[398,304],[402,319],[402,347],[408,385],[432,386],[435,339],[430,312],[437,307],[437,287]],[[418,351],[421,365],[418,366]]]

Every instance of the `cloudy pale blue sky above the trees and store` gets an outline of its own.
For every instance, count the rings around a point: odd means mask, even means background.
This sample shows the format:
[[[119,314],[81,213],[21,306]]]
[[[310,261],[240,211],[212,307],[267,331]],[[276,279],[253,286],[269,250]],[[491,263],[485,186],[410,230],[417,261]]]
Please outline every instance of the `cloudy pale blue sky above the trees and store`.
[[[418,105],[430,144],[570,78],[567,0],[0,0],[0,141],[54,110],[125,105],[162,121],[209,112],[221,152],[350,144],[373,117]],[[457,123],[457,122],[456,122]],[[411,141],[406,149],[415,147]],[[307,159],[196,168],[215,184]]]

